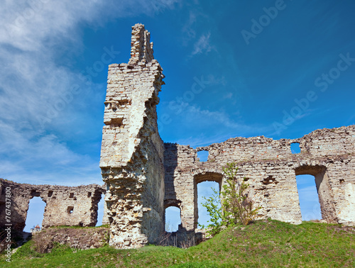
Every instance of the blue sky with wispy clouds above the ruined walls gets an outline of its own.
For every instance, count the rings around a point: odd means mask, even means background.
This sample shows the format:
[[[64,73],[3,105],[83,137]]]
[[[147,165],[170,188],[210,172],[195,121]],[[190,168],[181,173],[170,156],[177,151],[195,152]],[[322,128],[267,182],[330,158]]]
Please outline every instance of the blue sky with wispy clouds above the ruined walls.
[[[351,0],[4,1],[0,177],[102,183],[107,65],[128,62],[135,23],[151,32],[166,76],[165,142],[354,124],[354,10]]]

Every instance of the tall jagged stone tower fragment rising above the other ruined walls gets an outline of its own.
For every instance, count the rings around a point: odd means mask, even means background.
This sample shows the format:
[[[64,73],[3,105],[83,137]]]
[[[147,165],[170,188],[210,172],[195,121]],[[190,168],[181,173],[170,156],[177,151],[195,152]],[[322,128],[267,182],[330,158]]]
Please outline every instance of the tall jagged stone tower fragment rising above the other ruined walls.
[[[144,26],[132,28],[129,64],[110,65],[100,167],[107,184],[110,245],[141,247],[164,230],[163,141],[155,106],[163,69]]]

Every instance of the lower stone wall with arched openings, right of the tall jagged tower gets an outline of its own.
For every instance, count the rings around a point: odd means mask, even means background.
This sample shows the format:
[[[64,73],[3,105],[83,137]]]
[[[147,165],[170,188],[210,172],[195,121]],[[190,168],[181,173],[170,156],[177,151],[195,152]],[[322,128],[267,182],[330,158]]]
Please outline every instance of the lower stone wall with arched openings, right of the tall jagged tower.
[[[293,154],[291,143],[300,143]],[[165,143],[165,208],[181,209],[182,228],[197,226],[197,184],[207,180],[224,184],[222,167],[237,162],[238,179],[244,177],[258,218],[271,217],[301,223],[295,176],[315,176],[322,218],[331,223],[355,223],[355,126],[315,130],[295,140],[271,138],[231,138],[193,149]],[[209,152],[200,162],[197,152]]]

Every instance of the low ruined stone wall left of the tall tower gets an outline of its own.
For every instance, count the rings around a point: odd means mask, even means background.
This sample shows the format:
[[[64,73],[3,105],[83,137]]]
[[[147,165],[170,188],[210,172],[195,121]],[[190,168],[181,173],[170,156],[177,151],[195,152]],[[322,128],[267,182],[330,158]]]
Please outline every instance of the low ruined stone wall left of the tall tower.
[[[56,186],[18,184],[0,179],[0,225],[6,223],[6,187],[11,189],[11,223],[16,230],[23,230],[26,223],[28,204],[34,196],[45,201],[42,227],[94,226],[97,223],[97,204],[104,194],[103,186]],[[105,218],[105,217],[104,217]]]

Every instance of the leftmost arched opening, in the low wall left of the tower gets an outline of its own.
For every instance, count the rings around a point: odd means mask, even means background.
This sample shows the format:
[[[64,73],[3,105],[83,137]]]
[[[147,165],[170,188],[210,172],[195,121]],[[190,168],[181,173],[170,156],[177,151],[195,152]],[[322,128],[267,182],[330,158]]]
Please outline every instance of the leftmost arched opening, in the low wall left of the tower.
[[[35,229],[37,225],[42,228],[45,205],[45,201],[39,196],[35,196],[30,200],[30,203],[28,204],[26,225],[23,229],[24,232],[31,232],[31,229]]]

